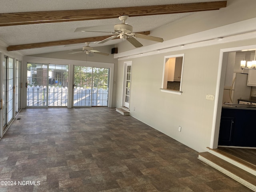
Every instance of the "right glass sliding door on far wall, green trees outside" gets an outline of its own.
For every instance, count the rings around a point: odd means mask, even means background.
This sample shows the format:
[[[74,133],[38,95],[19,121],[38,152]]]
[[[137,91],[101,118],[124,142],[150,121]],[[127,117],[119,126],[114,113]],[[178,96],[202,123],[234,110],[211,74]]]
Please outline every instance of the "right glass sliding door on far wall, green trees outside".
[[[74,66],[73,106],[108,106],[109,68]]]

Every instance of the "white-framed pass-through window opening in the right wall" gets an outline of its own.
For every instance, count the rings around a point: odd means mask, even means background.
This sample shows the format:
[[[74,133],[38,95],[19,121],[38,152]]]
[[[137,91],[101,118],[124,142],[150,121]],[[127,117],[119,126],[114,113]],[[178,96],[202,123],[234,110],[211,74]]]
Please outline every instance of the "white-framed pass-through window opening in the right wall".
[[[184,54],[165,56],[161,91],[181,94]]]

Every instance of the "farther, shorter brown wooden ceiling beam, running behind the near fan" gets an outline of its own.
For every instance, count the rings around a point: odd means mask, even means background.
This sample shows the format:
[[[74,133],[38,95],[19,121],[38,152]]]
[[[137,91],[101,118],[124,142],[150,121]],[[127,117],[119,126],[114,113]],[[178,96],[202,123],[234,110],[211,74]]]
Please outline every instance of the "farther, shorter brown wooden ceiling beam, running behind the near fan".
[[[137,32],[139,34],[149,35],[150,31],[145,32]],[[16,50],[24,50],[24,49],[34,49],[34,48],[42,48],[42,47],[50,47],[50,46],[60,46],[60,45],[69,45],[69,44],[78,44],[85,42],[96,42],[104,40],[109,36],[98,36],[98,37],[87,37],[87,38],[79,38],[79,39],[70,39],[70,40],[59,40],[59,41],[50,41],[50,42],[40,42],[40,43],[30,43],[30,44],[22,44],[22,45],[11,45],[7,47],[7,51],[16,51]]]

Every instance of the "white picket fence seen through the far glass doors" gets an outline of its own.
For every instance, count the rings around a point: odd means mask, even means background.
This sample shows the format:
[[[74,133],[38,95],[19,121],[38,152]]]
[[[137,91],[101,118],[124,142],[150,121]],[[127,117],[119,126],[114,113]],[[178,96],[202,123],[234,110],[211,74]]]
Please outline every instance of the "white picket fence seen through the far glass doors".
[[[28,86],[27,106],[67,106],[68,88],[49,86],[48,100],[46,86]],[[108,106],[108,89],[74,89],[73,106]]]

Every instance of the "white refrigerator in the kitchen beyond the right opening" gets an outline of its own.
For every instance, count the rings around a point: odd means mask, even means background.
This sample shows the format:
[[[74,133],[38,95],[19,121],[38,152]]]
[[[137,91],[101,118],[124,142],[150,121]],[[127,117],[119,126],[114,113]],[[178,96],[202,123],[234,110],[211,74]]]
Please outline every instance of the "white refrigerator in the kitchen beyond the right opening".
[[[251,86],[247,86],[248,74],[234,73],[232,85],[225,86],[223,103],[238,103],[238,99],[250,100]]]

